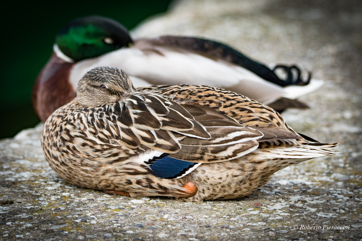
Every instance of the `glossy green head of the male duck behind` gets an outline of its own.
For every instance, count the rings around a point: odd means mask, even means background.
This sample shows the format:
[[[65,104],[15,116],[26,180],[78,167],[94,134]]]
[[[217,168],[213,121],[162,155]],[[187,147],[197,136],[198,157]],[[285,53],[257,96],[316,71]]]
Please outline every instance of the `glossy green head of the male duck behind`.
[[[128,46],[132,39],[119,22],[101,16],[77,18],[56,35],[60,51],[75,61],[93,58]]]

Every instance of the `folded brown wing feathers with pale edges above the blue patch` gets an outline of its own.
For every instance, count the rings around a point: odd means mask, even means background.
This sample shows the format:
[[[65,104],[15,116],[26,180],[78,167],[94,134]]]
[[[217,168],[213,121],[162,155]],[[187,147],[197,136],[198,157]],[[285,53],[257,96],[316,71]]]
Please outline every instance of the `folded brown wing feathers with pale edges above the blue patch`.
[[[245,155],[255,150],[256,140],[263,137],[259,130],[245,127],[212,108],[178,104],[152,94],[131,95],[115,103],[98,120],[97,125],[103,126],[99,138],[116,139],[132,149],[144,145],[198,163]]]

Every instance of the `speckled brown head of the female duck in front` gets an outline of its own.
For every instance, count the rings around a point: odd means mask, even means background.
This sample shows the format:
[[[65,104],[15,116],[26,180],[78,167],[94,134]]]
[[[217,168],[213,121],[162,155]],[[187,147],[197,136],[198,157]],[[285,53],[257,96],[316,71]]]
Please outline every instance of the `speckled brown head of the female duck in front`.
[[[77,99],[83,106],[115,103],[135,91],[131,79],[123,70],[98,67],[89,70],[78,83]]]

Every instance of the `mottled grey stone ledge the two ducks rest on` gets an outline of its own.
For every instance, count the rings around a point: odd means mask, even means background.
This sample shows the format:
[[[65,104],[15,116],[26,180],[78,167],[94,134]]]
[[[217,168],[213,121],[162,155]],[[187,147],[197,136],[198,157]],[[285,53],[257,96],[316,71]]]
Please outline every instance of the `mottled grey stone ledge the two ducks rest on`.
[[[43,157],[39,125],[0,141],[0,240],[362,239],[361,8],[359,1],[179,1],[133,31],[206,36],[266,64],[312,70],[325,85],[301,99],[311,109],[283,117],[298,132],[340,142],[342,153],[285,168],[241,199],[129,198],[60,180]]]

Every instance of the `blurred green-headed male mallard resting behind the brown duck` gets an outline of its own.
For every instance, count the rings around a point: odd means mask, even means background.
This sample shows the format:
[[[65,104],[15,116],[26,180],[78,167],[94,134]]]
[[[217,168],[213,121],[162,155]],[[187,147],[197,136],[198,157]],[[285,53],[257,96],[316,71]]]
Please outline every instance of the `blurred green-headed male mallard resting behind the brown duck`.
[[[53,50],[33,87],[33,106],[42,121],[75,98],[81,77],[100,66],[125,70],[135,87],[214,86],[263,104],[277,100],[273,107],[278,111],[286,107],[305,108],[304,104],[287,98],[295,99],[321,83],[309,83],[310,76],[303,81],[296,66],[279,65],[276,69],[284,69],[287,74],[282,80],[265,65],[208,39],[161,36],[132,40],[120,23],[100,16],[68,23],[56,36]]]

